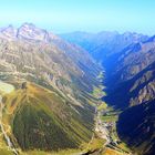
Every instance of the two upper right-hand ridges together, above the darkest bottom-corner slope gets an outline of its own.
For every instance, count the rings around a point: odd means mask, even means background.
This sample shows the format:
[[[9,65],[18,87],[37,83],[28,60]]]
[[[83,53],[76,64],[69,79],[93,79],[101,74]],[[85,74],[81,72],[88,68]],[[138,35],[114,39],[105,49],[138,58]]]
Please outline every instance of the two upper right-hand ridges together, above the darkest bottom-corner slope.
[[[114,58],[107,71],[105,100],[120,108],[152,100],[155,95],[154,40],[131,44]]]

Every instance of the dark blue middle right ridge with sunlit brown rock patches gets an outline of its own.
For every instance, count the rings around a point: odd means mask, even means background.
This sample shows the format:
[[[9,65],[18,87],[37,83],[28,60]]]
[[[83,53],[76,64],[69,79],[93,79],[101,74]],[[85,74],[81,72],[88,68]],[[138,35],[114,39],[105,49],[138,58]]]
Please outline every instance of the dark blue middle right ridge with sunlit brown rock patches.
[[[154,99],[155,62],[142,70],[133,79],[117,84],[115,89],[110,89],[107,93],[108,95],[104,100],[117,108],[125,108]]]

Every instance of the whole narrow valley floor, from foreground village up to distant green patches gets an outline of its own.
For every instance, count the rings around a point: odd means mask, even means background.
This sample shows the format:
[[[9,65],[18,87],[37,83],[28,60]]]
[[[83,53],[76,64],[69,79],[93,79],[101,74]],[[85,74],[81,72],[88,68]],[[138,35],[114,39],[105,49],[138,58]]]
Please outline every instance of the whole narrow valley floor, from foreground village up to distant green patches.
[[[102,73],[99,79],[103,80]],[[95,87],[93,95],[97,99],[106,95],[103,89],[104,85]],[[121,111],[114,110],[103,101],[95,106],[94,135],[84,151],[74,155],[133,155],[132,151],[117,136],[116,122]]]

